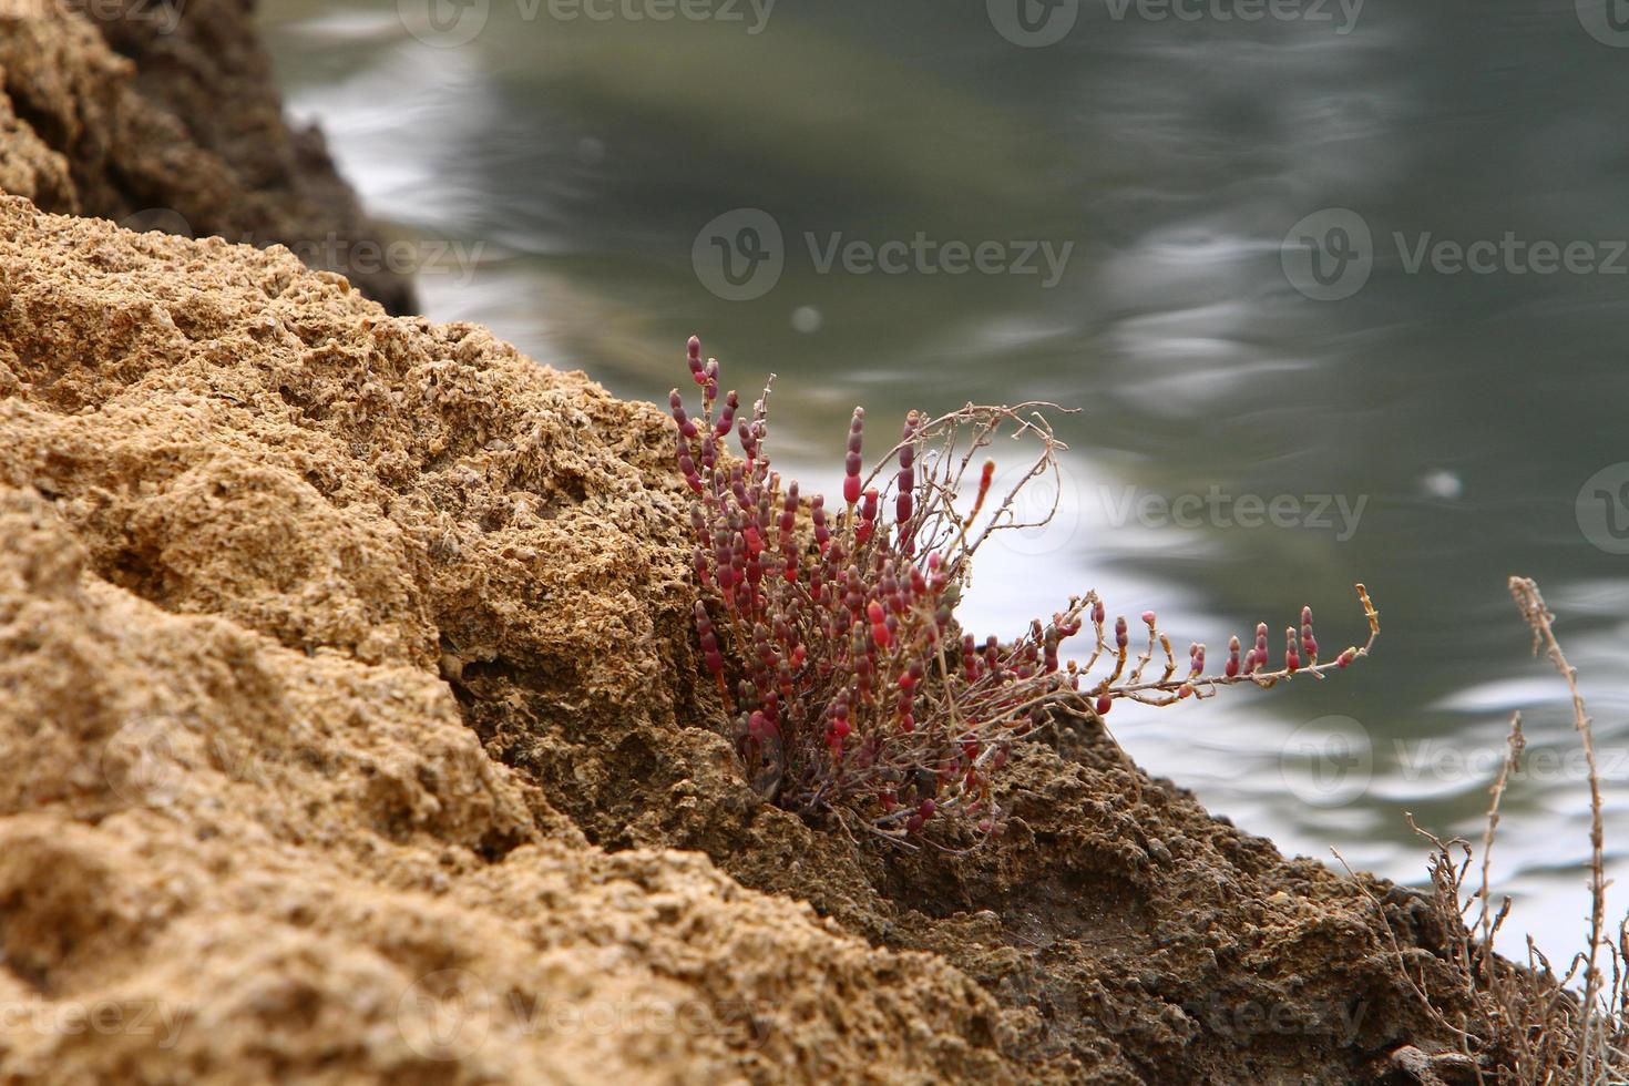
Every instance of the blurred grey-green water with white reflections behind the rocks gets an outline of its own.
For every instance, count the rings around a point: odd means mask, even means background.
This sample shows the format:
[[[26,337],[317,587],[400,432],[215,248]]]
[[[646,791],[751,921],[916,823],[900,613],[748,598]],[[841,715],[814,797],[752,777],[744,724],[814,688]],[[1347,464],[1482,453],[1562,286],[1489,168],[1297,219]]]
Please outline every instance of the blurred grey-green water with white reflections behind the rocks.
[[[1054,420],[1060,516],[987,555],[977,628],[1095,586],[1212,659],[1303,602],[1337,648],[1367,581],[1383,635],[1360,668],[1126,707],[1116,733],[1285,850],[1417,882],[1403,811],[1479,837],[1520,708],[1535,762],[1495,889],[1512,931],[1577,948],[1588,793],[1505,576],[1562,615],[1629,874],[1629,33],[1606,8],[1030,3],[1043,37],[1067,29],[1044,47],[997,29],[1026,34],[1002,0],[630,18],[663,10],[264,18],[290,109],[368,205],[450,243],[422,249],[438,319],[658,401],[700,332],[731,384],[779,374],[780,461],[818,480],[855,402],[1077,409]],[[865,259],[885,243],[898,274]]]

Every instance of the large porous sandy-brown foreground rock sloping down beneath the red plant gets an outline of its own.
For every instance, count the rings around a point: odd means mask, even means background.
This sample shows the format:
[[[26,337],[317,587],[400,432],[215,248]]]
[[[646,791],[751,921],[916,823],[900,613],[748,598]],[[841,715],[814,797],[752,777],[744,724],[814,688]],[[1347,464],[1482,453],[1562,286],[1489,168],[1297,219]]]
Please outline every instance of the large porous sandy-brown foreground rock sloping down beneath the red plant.
[[[1368,882],[1381,920],[1100,731],[1020,747],[969,856],[756,803],[668,425],[285,251],[0,199],[0,1081],[1350,1083],[1430,1047],[1409,894]]]

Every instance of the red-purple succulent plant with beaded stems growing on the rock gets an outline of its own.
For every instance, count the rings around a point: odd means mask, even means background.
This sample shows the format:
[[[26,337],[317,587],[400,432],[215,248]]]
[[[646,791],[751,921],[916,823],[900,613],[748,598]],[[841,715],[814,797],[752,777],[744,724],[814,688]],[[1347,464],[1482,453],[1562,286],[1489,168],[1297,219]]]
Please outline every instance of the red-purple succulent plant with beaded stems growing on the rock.
[[[1207,669],[1204,645],[1183,666],[1153,612],[1134,635],[1095,591],[1016,638],[976,638],[956,604],[994,534],[1036,526],[1020,523],[1016,500],[1057,471],[1051,404],[912,410],[870,471],[857,407],[841,501],[828,505],[772,471],[769,389],[743,410],[736,392],[720,396],[718,360],[704,361],[694,337],[687,360],[700,415],[676,389],[670,404],[674,459],[694,493],[696,632],[754,788],[787,809],[906,847],[979,843],[1000,832],[995,783],[1013,744],[1056,713],[1098,720],[1121,698],[1170,705],[1225,685],[1323,677],[1367,656],[1380,632],[1359,585],[1368,642],[1333,658],[1319,655],[1302,609],[1279,661],[1261,624],[1248,650],[1228,643],[1220,671]],[[740,456],[725,451],[731,433]],[[999,493],[995,462],[976,461],[1003,433],[1039,451]],[[1065,658],[1072,638],[1083,661]]]

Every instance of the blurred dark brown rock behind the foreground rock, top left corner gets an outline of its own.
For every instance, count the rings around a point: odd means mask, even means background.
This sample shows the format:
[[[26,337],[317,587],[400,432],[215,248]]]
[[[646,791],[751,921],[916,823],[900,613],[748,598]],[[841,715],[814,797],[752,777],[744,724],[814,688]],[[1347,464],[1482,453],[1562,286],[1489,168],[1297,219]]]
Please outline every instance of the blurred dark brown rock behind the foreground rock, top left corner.
[[[283,122],[248,0],[0,0],[0,190],[287,244],[391,313],[417,308],[321,132]]]

